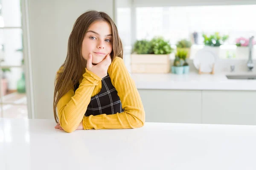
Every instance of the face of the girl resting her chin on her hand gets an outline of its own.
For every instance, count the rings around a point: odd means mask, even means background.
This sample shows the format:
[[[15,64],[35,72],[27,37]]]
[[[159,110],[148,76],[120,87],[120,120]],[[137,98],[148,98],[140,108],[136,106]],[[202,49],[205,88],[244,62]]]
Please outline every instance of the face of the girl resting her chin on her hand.
[[[96,21],[84,35],[82,43],[82,57],[88,59],[93,55],[93,64],[101,62],[113,49],[111,26],[106,21]]]

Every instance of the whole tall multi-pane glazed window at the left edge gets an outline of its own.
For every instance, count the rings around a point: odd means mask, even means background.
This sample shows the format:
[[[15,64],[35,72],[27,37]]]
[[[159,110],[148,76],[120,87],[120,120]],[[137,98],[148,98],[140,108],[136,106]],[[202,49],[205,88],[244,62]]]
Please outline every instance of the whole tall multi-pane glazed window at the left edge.
[[[0,0],[0,116],[28,118],[20,0]]]

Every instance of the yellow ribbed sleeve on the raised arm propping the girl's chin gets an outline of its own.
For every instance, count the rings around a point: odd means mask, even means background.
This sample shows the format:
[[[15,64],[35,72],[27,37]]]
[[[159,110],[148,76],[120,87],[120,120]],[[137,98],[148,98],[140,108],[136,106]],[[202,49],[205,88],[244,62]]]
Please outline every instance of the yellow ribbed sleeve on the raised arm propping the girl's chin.
[[[96,85],[102,79],[96,74],[88,71],[83,74],[83,79],[79,88],[70,89],[57,103],[58,118],[61,127],[66,132],[73,132],[77,129],[84,118],[84,113],[90,103],[91,95]]]

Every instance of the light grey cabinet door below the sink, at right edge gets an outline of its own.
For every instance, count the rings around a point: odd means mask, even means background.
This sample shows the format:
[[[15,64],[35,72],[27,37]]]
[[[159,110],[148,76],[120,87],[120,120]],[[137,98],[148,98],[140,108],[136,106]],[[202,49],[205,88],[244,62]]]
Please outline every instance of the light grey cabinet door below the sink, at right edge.
[[[256,125],[256,91],[202,91],[202,123]]]

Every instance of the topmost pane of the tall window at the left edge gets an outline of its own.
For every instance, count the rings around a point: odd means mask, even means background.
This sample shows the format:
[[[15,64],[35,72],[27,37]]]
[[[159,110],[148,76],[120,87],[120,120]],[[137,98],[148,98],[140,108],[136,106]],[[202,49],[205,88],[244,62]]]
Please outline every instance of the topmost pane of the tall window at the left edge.
[[[21,27],[20,0],[1,0],[0,7],[0,27]]]

